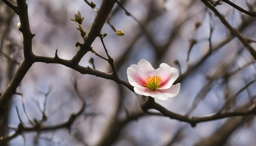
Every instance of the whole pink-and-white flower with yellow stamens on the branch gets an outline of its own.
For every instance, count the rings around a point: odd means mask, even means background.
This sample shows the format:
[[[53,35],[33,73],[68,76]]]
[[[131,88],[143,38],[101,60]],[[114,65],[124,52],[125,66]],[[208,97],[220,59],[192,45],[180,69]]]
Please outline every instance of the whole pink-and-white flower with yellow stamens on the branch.
[[[173,85],[179,72],[166,63],[154,69],[147,60],[141,59],[137,65],[128,67],[127,76],[129,83],[134,86],[135,93],[140,95],[167,100],[168,97],[175,97],[180,91],[180,83]]]

